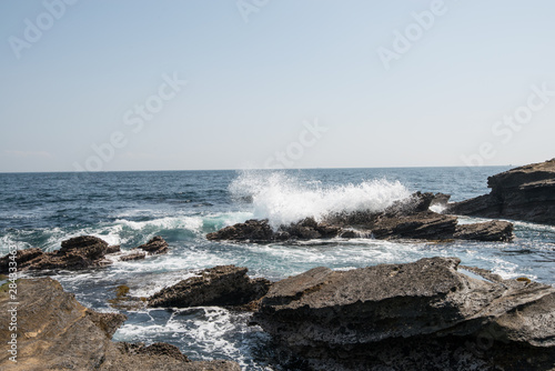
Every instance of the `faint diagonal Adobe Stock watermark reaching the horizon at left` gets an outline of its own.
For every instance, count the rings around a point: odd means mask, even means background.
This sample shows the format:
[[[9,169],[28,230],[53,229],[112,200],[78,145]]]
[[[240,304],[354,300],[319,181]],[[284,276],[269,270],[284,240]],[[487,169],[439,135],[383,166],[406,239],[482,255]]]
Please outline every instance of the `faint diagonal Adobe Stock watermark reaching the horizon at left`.
[[[132,133],[141,132],[145,123],[152,121],[155,114],[174,99],[188,83],[186,80],[181,80],[176,72],[173,72],[171,77],[167,73],[162,74],[162,80],[157,93],[149,96],[144,102],[134,104],[123,113],[122,122]],[[82,164],[73,162],[73,169],[80,172],[102,171],[104,164],[114,159],[117,150],[121,150],[128,143],[129,133],[115,130],[110,134],[108,141],[100,144],[92,143],[91,150],[94,154],[89,156]]]

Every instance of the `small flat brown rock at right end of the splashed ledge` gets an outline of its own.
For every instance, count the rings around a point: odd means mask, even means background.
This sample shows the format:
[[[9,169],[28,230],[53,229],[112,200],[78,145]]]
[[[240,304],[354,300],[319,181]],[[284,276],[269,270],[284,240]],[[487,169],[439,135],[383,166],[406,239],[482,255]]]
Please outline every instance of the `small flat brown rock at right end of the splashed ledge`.
[[[509,222],[493,220],[457,225],[453,237],[461,240],[509,242],[514,239],[513,229]]]

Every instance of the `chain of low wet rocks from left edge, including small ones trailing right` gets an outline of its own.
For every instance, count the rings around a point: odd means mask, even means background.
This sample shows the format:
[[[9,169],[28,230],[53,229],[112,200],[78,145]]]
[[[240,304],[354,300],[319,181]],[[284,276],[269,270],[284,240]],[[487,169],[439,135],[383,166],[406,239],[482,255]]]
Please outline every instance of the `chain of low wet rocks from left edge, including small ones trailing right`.
[[[109,245],[94,235],[80,235],[61,243],[53,252],[31,248],[16,254],[18,271],[79,270],[110,265],[113,261],[144,259],[148,254],[168,252],[168,242],[160,235],[130,251],[121,251],[119,245]],[[0,273],[9,271],[10,255],[0,258]]]

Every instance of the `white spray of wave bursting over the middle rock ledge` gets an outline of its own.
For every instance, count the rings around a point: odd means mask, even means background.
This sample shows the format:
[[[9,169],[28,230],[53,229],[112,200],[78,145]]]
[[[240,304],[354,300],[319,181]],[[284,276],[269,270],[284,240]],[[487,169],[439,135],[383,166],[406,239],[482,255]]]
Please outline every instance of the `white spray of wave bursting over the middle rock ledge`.
[[[230,184],[230,191],[238,199],[252,199],[254,217],[268,218],[274,228],[334,212],[381,211],[411,194],[398,181],[384,179],[323,187],[283,172],[246,171]]]

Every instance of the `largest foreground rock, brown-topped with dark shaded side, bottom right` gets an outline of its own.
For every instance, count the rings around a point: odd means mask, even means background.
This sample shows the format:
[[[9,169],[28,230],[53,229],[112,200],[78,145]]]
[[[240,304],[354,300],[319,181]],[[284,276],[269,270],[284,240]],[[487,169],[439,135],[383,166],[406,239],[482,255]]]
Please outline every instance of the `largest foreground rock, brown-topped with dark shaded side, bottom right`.
[[[458,262],[316,268],[274,283],[254,321],[306,369],[553,368],[555,289]]]

